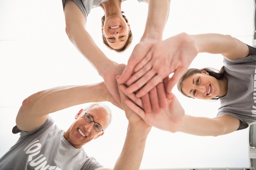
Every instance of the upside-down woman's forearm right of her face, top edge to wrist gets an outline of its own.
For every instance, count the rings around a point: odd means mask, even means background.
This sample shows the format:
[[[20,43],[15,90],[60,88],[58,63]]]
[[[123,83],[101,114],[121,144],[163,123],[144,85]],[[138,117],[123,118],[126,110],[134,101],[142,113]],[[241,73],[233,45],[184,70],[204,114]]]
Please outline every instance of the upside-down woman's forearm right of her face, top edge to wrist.
[[[141,40],[162,40],[164,27],[169,16],[170,0],[150,0],[144,34]]]

